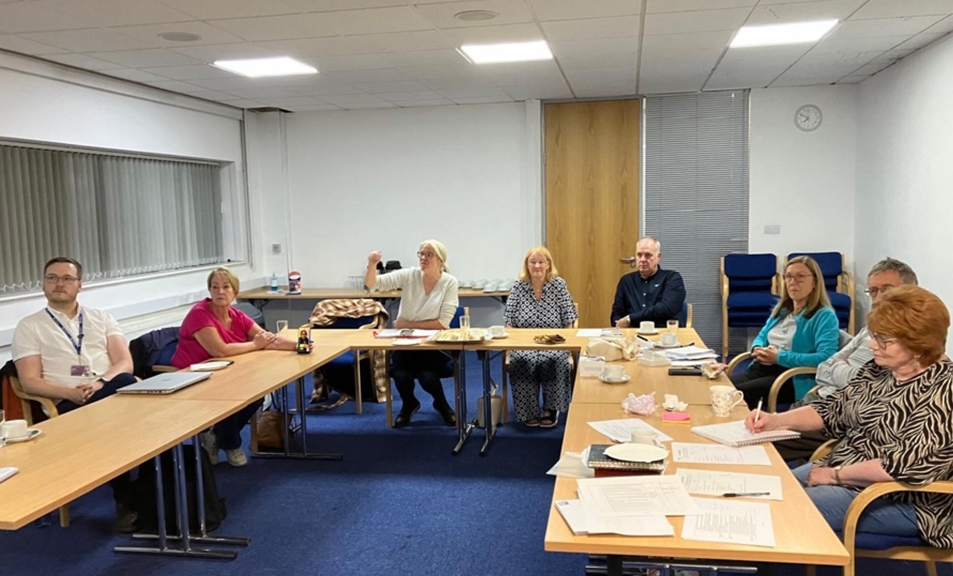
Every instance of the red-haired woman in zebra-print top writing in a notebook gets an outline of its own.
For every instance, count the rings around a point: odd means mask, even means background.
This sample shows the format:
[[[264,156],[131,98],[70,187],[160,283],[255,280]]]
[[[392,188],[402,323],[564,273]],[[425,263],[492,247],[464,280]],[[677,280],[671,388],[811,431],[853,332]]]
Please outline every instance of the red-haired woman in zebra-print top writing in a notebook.
[[[901,286],[867,318],[874,360],[840,392],[782,414],[749,415],[748,428],[823,430],[834,451],[794,470],[836,531],[847,506],[872,483],[923,485],[953,479],[953,363],[945,356],[950,317],[933,293]],[[866,507],[860,532],[921,537],[953,547],[953,496],[900,492]]]

